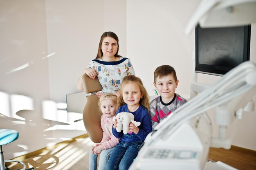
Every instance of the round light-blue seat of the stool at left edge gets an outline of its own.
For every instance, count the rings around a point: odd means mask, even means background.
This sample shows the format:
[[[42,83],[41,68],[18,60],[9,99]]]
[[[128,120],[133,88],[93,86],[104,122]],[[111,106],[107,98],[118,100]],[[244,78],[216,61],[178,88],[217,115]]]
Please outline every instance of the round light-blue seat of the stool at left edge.
[[[9,144],[20,136],[19,132],[12,129],[0,129],[0,145]]]

